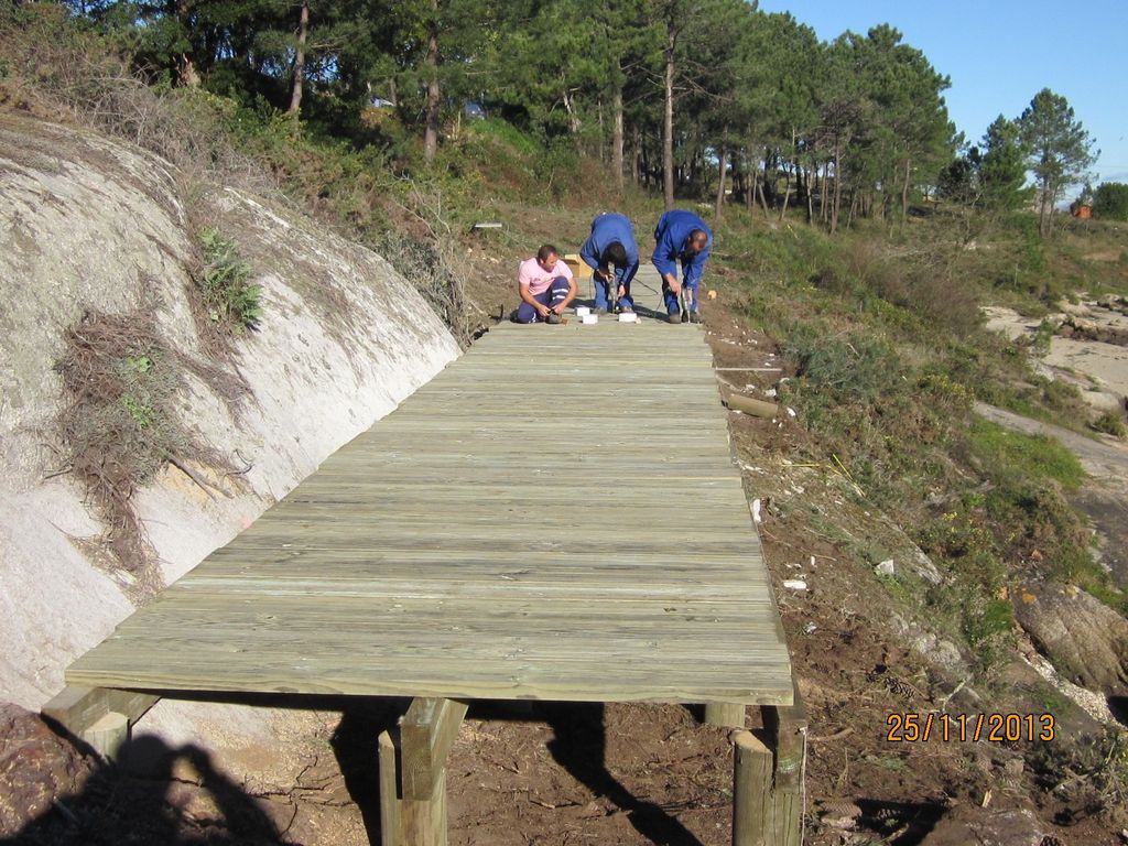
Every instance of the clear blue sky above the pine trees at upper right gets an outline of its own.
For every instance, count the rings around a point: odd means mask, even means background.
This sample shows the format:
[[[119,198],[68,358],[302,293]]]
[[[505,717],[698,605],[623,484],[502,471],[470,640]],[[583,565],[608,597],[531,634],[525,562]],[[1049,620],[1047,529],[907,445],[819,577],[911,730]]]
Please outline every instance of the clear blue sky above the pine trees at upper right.
[[[972,142],[1049,88],[1101,150],[1093,184],[1128,183],[1128,0],[760,0],[759,8],[791,12],[822,41],[896,27],[951,78],[948,113]]]

